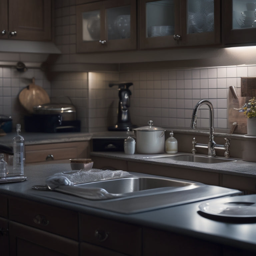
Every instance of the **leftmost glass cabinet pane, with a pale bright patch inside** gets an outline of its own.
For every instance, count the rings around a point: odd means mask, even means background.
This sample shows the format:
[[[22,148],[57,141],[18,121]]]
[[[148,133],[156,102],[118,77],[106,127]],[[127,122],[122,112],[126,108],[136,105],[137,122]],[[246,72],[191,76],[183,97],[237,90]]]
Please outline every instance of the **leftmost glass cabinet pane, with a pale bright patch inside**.
[[[83,41],[100,40],[100,11],[83,12]]]

